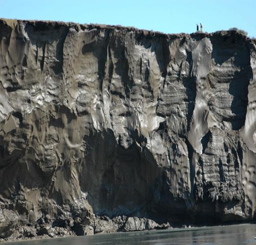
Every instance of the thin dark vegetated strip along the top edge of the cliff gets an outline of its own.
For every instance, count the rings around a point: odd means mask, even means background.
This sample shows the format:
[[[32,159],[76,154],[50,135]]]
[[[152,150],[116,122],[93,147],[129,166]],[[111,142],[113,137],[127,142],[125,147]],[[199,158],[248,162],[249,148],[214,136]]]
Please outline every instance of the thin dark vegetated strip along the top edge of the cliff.
[[[74,28],[75,30],[92,30],[92,29],[115,29],[119,31],[124,31],[124,32],[136,32],[138,34],[147,36],[155,36],[155,37],[165,37],[169,39],[173,38],[181,38],[181,37],[192,37],[192,38],[204,38],[204,37],[214,37],[214,36],[237,36],[239,38],[243,39],[248,39],[251,40],[252,42],[256,43],[255,38],[249,38],[247,36],[242,35],[241,33],[237,31],[217,31],[217,32],[212,32],[212,33],[207,33],[207,32],[194,32],[194,33],[177,33],[177,34],[166,34],[158,31],[152,31],[152,30],[143,30],[143,29],[138,29],[135,27],[123,27],[120,25],[109,25],[109,24],[80,24],[80,23],[75,23],[75,22],[63,22],[63,21],[51,21],[51,20],[19,20],[19,19],[5,19],[5,18],[0,18],[0,24],[4,23],[7,24],[9,27],[14,28],[16,24],[32,24],[35,26],[35,28],[46,30],[48,28],[52,28],[53,26],[55,28],[65,26],[68,28]]]

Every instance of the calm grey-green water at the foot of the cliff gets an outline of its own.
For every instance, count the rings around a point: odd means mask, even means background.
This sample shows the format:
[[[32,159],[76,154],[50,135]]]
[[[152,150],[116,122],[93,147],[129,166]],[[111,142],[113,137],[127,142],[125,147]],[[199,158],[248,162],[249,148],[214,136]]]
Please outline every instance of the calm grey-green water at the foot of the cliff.
[[[52,238],[5,245],[256,245],[256,224]]]

